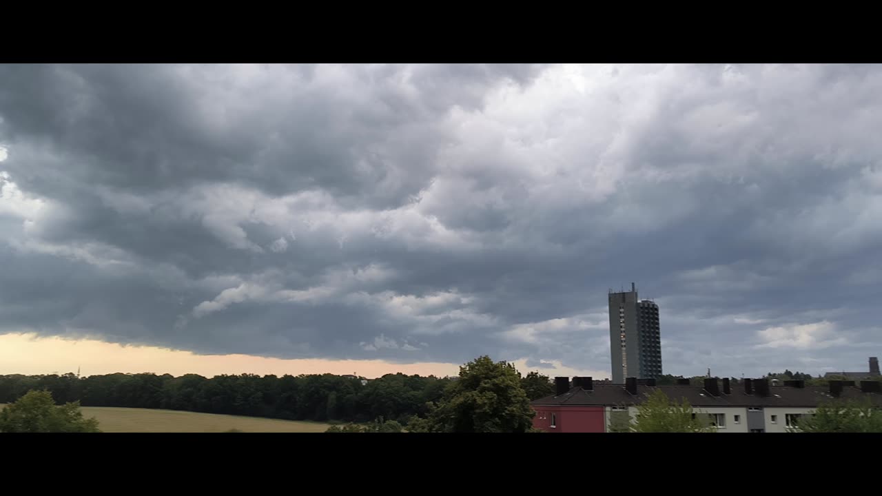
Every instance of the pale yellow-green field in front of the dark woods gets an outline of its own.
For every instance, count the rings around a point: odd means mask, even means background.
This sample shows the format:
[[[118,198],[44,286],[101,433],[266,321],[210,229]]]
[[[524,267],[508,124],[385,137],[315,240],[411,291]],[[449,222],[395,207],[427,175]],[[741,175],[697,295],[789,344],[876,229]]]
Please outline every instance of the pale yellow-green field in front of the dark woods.
[[[0,409],[5,405],[0,404]],[[83,416],[95,417],[103,432],[325,432],[330,425],[273,418],[236,417],[177,410],[82,407]]]

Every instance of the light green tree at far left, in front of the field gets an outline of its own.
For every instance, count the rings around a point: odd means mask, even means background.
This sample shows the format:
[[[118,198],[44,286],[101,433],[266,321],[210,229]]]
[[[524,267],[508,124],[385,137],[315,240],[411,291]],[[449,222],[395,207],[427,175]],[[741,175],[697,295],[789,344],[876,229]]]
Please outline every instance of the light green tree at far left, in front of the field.
[[[56,405],[49,391],[29,391],[0,411],[0,432],[101,432],[79,402]]]

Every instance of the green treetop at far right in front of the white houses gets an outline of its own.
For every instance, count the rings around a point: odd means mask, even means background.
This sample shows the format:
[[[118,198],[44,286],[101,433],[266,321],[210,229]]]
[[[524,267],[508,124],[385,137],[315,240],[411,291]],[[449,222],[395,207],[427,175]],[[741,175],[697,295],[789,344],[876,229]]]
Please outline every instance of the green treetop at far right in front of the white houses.
[[[866,400],[829,400],[801,419],[798,432],[882,432],[882,411]]]

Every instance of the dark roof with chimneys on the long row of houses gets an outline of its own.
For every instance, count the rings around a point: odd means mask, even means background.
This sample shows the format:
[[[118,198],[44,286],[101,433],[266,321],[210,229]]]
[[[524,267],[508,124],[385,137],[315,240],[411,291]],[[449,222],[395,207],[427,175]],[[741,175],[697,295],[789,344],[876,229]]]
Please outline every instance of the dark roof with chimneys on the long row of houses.
[[[745,395],[744,385],[733,385],[731,395],[709,395],[704,388],[697,386],[638,386],[637,395],[630,395],[621,384],[594,384],[594,389],[587,391],[581,387],[573,387],[570,391],[560,396],[546,396],[534,400],[534,405],[560,405],[560,406],[632,406],[643,402],[654,390],[661,389],[672,400],[677,402],[687,400],[693,407],[817,407],[819,402],[830,400],[827,387],[770,387],[766,397]],[[863,393],[857,387],[845,387],[842,390],[842,399],[858,399],[868,397],[871,402],[882,406],[882,395],[876,393]]]

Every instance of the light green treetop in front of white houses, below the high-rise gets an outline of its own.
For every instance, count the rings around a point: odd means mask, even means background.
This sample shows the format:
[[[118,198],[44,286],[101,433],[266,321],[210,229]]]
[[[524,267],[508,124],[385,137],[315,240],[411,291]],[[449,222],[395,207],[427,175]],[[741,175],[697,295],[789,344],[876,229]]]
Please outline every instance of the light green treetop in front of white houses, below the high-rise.
[[[715,432],[703,415],[694,415],[687,400],[677,403],[657,389],[638,407],[634,432]]]

